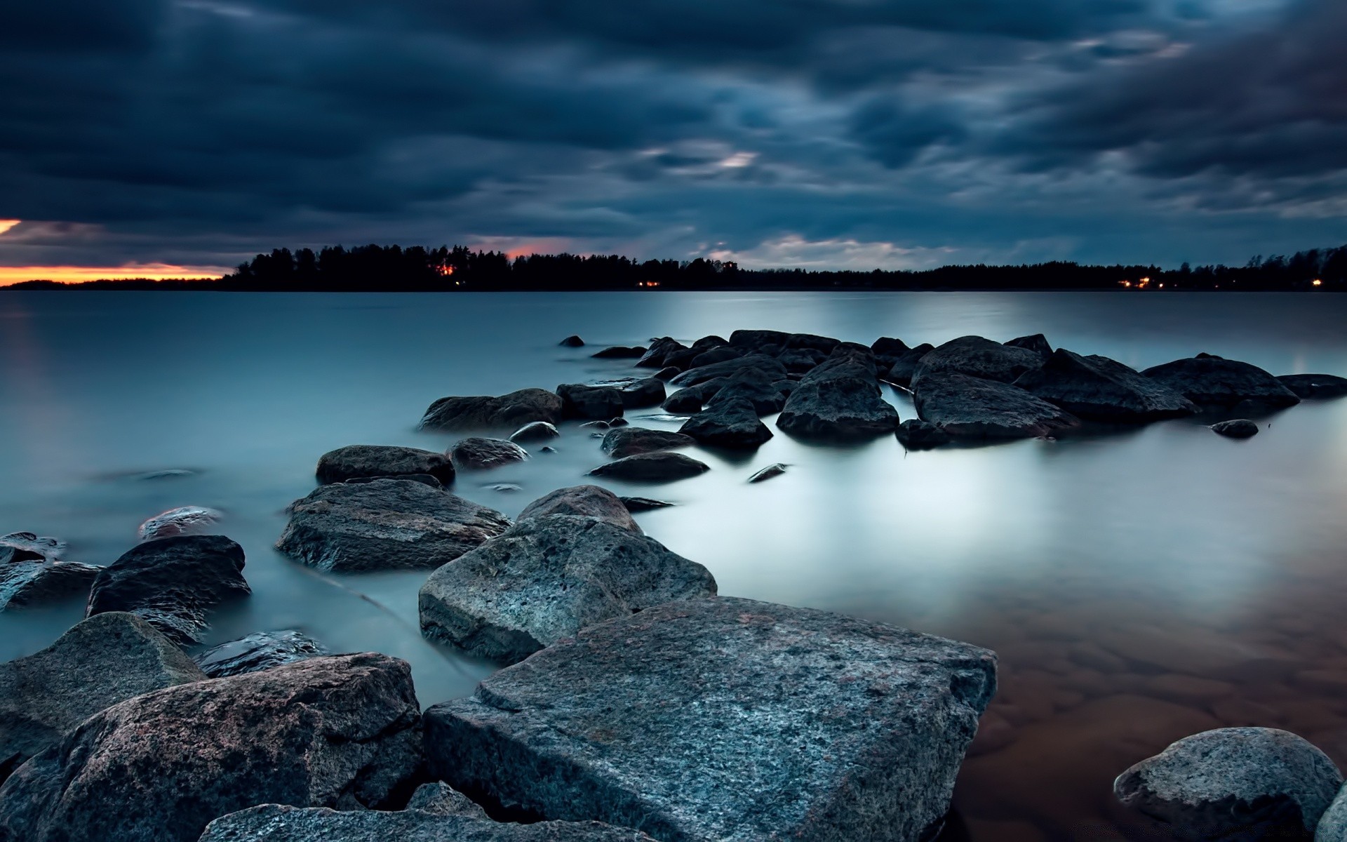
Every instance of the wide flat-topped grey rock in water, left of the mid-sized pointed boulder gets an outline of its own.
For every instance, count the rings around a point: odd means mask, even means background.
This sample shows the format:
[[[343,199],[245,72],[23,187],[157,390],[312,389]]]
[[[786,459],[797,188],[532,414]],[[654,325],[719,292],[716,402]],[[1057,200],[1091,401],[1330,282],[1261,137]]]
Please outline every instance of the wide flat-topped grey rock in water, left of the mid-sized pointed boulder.
[[[439,567],[509,527],[494,509],[407,480],[322,485],[290,507],[276,548],[331,573]]]

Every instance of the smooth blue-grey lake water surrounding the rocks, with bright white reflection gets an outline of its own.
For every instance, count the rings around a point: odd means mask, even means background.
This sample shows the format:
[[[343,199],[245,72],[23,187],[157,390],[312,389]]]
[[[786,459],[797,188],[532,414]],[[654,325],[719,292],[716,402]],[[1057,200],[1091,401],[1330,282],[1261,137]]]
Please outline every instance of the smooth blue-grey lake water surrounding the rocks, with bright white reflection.
[[[489,667],[420,639],[426,574],[326,577],[272,544],[323,451],[447,447],[415,430],[436,397],[624,375],[629,362],[587,354],[737,327],[909,345],[1043,331],[1138,368],[1206,350],[1278,375],[1347,373],[1344,325],[1347,296],[1328,295],[5,292],[0,533],[62,536],[69,558],[105,564],[151,515],[222,509],[255,593],[217,618],[214,641],[302,628],[334,651],[388,652],[431,705]],[[558,348],[571,333],[593,348]],[[901,392],[889,399],[913,416]],[[629,418],[676,427],[644,414]],[[1276,725],[1347,768],[1347,400],[1266,422],[1246,442],[1176,420],[911,454],[893,438],[830,449],[777,434],[752,457],[698,454],[713,470],[692,480],[609,485],[676,501],[637,520],[710,567],[722,594],[1001,653],[950,838],[1141,839],[1110,781],[1180,736]],[[556,446],[454,490],[513,516],[603,461],[574,426]],[[745,484],[770,462],[791,470]],[[197,473],[136,477],[178,467]],[[0,614],[0,660],[50,644],[81,608]]]

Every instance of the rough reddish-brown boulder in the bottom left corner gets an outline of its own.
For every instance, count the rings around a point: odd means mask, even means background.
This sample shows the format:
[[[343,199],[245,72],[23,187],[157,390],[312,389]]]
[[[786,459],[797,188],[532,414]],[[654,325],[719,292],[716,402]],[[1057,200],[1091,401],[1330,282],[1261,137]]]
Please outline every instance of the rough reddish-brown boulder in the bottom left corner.
[[[0,838],[195,842],[255,804],[389,807],[420,765],[405,661],[314,657],[128,699],[0,788]]]

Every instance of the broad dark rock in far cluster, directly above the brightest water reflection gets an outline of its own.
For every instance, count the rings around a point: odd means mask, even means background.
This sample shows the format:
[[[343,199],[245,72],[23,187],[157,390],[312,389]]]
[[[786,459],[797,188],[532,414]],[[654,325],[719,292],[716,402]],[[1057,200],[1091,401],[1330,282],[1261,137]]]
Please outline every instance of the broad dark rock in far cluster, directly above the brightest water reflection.
[[[913,403],[921,420],[954,436],[1033,438],[1080,426],[1076,416],[1018,387],[956,372],[924,375]]]

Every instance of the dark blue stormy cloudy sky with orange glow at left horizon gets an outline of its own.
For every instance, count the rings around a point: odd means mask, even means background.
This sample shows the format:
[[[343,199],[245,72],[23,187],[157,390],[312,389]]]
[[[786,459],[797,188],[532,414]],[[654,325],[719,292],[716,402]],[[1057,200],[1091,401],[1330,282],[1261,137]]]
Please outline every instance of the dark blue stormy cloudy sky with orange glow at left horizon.
[[[1344,39],[1343,0],[26,1],[0,267],[1243,263],[1347,242]]]

